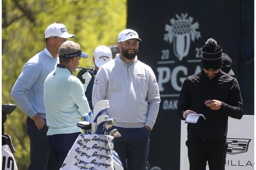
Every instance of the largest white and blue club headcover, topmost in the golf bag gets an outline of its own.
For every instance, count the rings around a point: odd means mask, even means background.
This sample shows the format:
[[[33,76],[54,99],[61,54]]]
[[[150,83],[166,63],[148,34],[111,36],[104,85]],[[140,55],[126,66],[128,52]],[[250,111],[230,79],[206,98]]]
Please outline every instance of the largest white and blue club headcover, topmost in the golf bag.
[[[108,100],[100,100],[96,102],[92,109],[90,123],[92,122],[97,123],[97,118],[101,116],[101,114],[103,114],[108,108],[109,108]]]

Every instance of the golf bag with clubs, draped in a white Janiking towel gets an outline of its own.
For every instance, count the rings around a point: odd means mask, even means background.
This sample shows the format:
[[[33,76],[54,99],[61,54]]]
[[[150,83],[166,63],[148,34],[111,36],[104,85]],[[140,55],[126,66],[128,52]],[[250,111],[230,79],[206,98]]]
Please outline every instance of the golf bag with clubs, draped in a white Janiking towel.
[[[113,150],[114,137],[121,135],[116,129],[108,133],[108,127],[115,124],[115,119],[101,116],[108,108],[108,100],[98,101],[92,111],[84,114],[84,121],[77,123],[85,133],[77,137],[60,170],[123,170],[122,162]]]

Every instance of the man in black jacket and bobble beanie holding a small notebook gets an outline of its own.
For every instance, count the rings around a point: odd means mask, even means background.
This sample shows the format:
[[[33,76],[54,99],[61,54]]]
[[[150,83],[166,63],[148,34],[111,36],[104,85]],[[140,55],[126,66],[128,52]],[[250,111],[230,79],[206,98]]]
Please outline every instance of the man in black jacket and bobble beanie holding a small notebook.
[[[202,48],[203,70],[183,82],[177,115],[203,114],[197,123],[188,123],[188,160],[190,170],[224,170],[226,164],[228,117],[241,119],[243,102],[238,82],[222,72],[222,49],[210,38]]]

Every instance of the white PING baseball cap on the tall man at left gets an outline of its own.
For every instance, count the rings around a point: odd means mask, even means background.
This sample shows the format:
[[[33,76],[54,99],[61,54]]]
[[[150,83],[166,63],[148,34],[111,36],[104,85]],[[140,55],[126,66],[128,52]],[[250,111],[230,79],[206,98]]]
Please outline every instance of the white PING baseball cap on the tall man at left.
[[[69,34],[65,25],[63,24],[57,24],[56,22],[54,24],[49,25],[45,32],[44,37],[49,38],[51,36],[58,36],[61,38],[75,38],[75,35]]]

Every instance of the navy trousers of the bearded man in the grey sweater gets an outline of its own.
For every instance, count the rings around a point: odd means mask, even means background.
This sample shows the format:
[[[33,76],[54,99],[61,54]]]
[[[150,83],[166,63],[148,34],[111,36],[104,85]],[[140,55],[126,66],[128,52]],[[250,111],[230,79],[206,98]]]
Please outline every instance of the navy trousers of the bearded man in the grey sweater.
[[[144,170],[148,160],[150,130],[145,127],[122,128],[113,126],[109,129],[117,129],[121,137],[114,138],[114,150],[117,152],[124,170],[126,159],[129,170]]]

